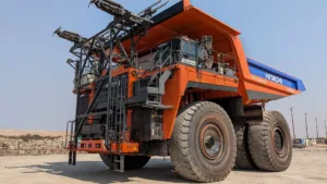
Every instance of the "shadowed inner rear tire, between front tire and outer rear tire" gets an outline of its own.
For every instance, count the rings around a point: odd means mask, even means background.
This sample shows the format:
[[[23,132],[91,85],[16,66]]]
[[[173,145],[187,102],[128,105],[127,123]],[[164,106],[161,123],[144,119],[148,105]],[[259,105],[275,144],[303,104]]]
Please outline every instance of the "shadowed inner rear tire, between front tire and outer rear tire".
[[[241,170],[255,170],[257,169],[254,164],[249,150],[249,138],[247,138],[247,124],[234,124],[237,139],[238,139],[238,154],[235,168]]]

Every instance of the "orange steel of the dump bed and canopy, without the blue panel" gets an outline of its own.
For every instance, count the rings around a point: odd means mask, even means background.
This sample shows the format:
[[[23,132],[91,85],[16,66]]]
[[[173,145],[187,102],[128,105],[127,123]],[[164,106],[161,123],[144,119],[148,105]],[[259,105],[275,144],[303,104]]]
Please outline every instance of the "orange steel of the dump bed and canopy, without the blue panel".
[[[290,96],[299,94],[299,90],[269,82],[265,78],[254,77],[249,70],[249,64],[242,42],[239,38],[241,33],[223,24],[215,17],[204,13],[197,8],[184,1],[184,11],[178,15],[154,26],[138,44],[138,52],[155,48],[161,42],[177,36],[185,35],[192,39],[199,39],[204,35],[211,35],[214,49],[219,52],[231,53],[237,59],[239,94],[243,97],[244,105],[266,102],[264,99],[250,99],[247,90],[266,93],[278,96]],[[123,44],[129,50],[130,42]]]

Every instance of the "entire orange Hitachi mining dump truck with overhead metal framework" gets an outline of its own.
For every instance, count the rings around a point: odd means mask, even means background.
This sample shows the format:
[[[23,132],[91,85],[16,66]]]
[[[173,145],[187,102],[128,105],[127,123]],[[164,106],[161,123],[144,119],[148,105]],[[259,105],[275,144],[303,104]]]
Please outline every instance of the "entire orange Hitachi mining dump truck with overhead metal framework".
[[[287,170],[289,126],[265,105],[304,91],[302,81],[247,59],[240,32],[190,0],[167,3],[133,13],[92,0],[113,16],[107,27],[89,38],[55,32],[75,56],[66,61],[76,95],[69,164],[76,151],[98,154],[118,172],[169,156],[178,174],[196,182],[222,181],[234,167]]]

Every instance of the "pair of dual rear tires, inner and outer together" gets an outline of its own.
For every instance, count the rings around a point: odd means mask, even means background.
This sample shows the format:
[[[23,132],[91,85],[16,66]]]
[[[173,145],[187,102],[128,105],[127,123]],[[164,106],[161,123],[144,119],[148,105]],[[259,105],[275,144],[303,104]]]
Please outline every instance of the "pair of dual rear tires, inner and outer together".
[[[235,125],[237,168],[280,172],[292,160],[292,138],[287,121],[277,111],[265,111],[263,122]]]

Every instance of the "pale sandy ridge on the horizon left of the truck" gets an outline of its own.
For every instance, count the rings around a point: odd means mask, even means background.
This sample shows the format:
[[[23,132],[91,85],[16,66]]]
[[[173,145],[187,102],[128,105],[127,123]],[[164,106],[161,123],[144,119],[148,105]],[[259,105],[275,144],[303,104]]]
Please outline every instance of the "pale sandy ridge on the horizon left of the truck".
[[[39,136],[64,136],[65,132],[61,131],[26,131],[26,130],[1,130],[0,135],[3,136],[20,136],[20,135],[39,135]]]

